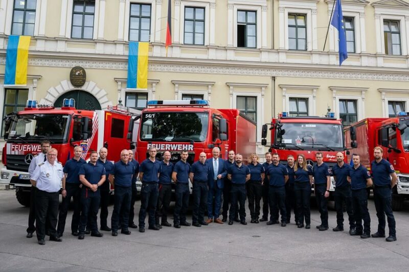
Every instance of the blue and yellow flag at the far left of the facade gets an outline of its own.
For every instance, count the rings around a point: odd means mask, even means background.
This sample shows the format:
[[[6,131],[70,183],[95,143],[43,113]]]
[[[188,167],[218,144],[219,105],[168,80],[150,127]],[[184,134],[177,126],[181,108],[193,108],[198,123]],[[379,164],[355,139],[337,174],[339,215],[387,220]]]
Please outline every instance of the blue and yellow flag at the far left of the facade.
[[[6,52],[5,85],[27,85],[30,36],[9,36]]]

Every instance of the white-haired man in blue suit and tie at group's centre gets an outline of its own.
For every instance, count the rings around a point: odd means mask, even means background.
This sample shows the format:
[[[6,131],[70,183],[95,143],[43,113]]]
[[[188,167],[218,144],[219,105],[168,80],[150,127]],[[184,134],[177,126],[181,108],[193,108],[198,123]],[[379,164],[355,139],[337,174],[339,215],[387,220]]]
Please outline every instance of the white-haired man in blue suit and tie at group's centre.
[[[210,167],[208,175],[208,217],[206,221],[208,224],[213,222],[213,219],[218,224],[223,224],[223,221],[219,219],[220,207],[221,207],[221,193],[224,187],[224,177],[227,175],[225,169],[225,162],[219,158],[220,149],[214,147],[212,151],[213,158],[206,160],[206,163]],[[213,201],[214,197],[214,201]],[[214,204],[214,206],[213,206]]]

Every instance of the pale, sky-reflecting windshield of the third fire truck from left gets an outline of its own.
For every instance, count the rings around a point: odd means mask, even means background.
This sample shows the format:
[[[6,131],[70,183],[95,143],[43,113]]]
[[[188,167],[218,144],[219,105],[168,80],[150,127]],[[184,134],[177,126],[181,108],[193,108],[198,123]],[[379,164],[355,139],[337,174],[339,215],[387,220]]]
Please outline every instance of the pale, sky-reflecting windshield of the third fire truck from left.
[[[342,126],[330,123],[282,123],[276,132],[276,144],[289,149],[343,150]]]

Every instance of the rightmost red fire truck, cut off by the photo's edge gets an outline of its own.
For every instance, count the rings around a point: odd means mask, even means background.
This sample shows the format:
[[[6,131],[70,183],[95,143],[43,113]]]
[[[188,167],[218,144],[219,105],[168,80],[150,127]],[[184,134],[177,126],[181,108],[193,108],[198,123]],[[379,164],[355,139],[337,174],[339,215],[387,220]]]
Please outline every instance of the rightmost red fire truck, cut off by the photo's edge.
[[[348,160],[351,160],[352,154],[358,154],[361,164],[370,169],[374,160],[374,147],[381,146],[383,158],[395,168],[398,175],[398,184],[392,188],[392,209],[395,211],[401,210],[404,200],[409,199],[408,126],[408,114],[400,112],[397,117],[392,118],[366,118],[345,130],[345,141],[347,144],[352,142]]]

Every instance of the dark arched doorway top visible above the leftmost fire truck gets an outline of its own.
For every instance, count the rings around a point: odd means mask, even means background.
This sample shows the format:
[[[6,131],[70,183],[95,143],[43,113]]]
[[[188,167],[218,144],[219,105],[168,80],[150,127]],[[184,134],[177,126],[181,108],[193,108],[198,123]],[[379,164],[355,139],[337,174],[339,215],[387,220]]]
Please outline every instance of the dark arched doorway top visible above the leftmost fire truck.
[[[64,98],[74,98],[75,108],[78,110],[101,110],[101,105],[99,104],[97,98],[86,91],[74,90],[66,92],[57,98],[57,100],[54,102],[54,106],[61,107]]]

